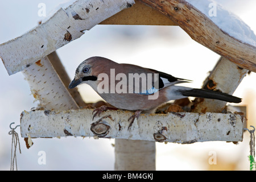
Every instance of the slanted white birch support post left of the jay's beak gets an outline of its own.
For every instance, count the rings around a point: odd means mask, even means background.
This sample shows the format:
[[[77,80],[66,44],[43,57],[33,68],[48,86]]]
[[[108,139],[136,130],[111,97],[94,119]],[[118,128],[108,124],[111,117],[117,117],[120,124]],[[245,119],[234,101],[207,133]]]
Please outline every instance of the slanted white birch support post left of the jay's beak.
[[[23,75],[40,107],[47,110],[79,108],[47,57],[25,69]]]

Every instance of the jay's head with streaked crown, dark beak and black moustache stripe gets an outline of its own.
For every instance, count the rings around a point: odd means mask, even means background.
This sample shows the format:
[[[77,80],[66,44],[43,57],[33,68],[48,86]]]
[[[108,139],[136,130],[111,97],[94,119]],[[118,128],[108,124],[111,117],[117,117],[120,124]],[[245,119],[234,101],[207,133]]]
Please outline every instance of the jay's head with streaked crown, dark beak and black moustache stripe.
[[[71,81],[68,88],[75,88],[79,84],[96,84],[98,75],[104,71],[104,65],[108,65],[111,60],[104,57],[90,57],[77,67],[75,78]]]

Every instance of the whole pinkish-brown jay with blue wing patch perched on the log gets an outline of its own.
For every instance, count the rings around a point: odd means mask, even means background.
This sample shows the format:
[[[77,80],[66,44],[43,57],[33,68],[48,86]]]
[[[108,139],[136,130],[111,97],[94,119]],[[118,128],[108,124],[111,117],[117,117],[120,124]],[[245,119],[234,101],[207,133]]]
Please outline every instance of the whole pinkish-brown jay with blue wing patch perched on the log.
[[[130,117],[130,126],[141,111],[150,112],[165,102],[180,98],[200,97],[241,102],[241,98],[226,93],[175,85],[188,81],[190,80],[176,78],[138,65],[118,64],[104,57],[90,57],[77,67],[75,78],[68,88],[72,89],[86,83],[115,107],[101,106],[93,111],[93,113],[96,111],[93,118],[108,109],[136,111]]]

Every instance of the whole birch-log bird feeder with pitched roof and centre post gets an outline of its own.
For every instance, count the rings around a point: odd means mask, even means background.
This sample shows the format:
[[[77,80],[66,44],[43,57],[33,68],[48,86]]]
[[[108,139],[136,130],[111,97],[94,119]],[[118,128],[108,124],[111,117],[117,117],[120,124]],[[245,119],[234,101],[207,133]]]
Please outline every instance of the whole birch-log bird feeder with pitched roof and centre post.
[[[40,102],[39,109],[22,112],[22,137],[115,138],[117,170],[154,170],[155,142],[241,142],[245,113],[230,112],[224,101],[196,98],[192,112],[142,114],[130,130],[130,111],[106,111],[93,120],[92,107],[76,89],[68,89],[71,80],[55,53],[97,24],[180,26],[221,56],[204,88],[233,94],[247,72],[256,71],[256,47],[222,30],[200,7],[192,0],[78,0],[26,34],[1,44],[0,57],[9,75],[21,71]],[[221,113],[224,109],[226,113]]]

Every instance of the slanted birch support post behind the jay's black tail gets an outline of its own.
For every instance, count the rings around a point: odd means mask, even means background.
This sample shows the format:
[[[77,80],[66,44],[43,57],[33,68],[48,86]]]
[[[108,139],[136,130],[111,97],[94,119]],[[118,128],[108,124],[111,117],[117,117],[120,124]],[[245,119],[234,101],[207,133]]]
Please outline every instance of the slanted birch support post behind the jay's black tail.
[[[203,88],[233,94],[247,72],[247,69],[237,67],[225,57],[221,57],[213,71],[205,79]],[[191,111],[195,113],[221,113],[226,103],[220,100],[196,98],[193,101]]]

